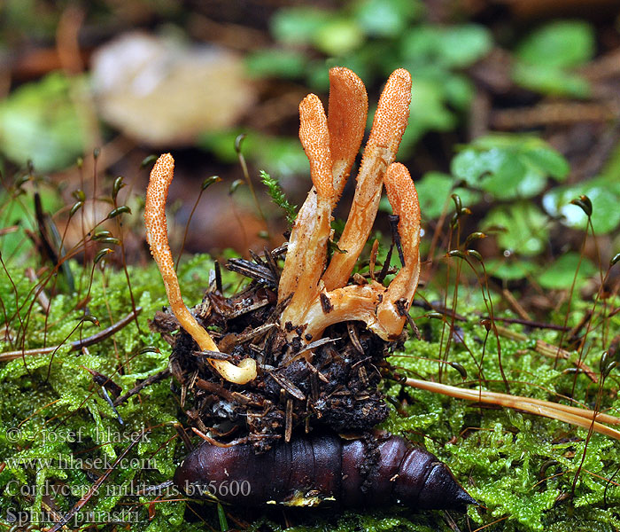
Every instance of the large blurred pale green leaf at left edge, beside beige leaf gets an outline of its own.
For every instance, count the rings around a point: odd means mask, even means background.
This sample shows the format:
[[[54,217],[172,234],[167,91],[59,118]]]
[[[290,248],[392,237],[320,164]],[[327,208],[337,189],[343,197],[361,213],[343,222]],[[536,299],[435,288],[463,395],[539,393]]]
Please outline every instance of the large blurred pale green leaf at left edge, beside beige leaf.
[[[84,80],[71,82],[52,72],[39,82],[14,90],[0,104],[0,149],[17,164],[33,160],[51,171],[73,164],[84,151],[82,121],[70,98],[70,84],[86,90]]]

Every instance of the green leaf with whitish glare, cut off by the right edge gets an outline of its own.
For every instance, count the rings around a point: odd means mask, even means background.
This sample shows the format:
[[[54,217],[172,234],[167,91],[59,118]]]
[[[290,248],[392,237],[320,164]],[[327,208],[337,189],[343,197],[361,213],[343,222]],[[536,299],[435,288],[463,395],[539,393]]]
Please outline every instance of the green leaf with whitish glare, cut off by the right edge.
[[[583,209],[570,204],[582,194],[592,201],[592,224],[596,234],[606,234],[620,225],[620,181],[617,176],[597,177],[555,188],[543,197],[543,207],[549,215],[560,217],[567,227],[585,230],[587,216]]]

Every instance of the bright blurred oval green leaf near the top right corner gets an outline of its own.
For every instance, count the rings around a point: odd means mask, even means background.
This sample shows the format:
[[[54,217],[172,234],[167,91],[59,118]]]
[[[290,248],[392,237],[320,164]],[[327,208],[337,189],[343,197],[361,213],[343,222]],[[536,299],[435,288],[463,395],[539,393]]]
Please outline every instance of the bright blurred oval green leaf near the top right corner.
[[[560,20],[528,35],[516,49],[519,59],[545,68],[583,65],[596,49],[593,27],[583,20]]]

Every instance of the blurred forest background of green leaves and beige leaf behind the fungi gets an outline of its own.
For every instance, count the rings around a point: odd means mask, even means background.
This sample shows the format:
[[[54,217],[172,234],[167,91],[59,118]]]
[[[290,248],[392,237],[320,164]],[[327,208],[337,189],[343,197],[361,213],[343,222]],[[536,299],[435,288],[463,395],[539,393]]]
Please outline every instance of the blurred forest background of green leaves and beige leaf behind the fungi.
[[[267,235],[271,245],[282,241],[283,213],[261,215],[247,181],[238,181],[235,140],[245,135],[252,180],[266,170],[299,205],[309,179],[297,105],[309,90],[326,97],[334,65],[366,83],[368,127],[386,76],[399,66],[413,75],[399,160],[418,184],[427,232],[444,234],[446,199],[456,192],[472,212],[467,228],[492,236],[480,246],[500,279],[542,275],[537,264],[578,251],[586,216],[570,201],[585,194],[603,262],[617,249],[620,35],[612,0],[587,8],[528,0],[7,0],[2,10],[3,175],[30,161],[66,198],[92,189],[91,154],[100,149],[100,182],[127,176],[140,196],[146,176],[137,161],[173,150],[180,227],[199,182],[222,177],[196,209],[188,251],[245,254]],[[346,213],[351,182],[337,215]],[[238,228],[222,233],[217,222],[229,219],[231,205]],[[3,209],[5,225],[13,212]],[[198,227],[210,231],[197,238]],[[533,266],[524,270],[523,261]]]

